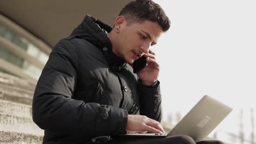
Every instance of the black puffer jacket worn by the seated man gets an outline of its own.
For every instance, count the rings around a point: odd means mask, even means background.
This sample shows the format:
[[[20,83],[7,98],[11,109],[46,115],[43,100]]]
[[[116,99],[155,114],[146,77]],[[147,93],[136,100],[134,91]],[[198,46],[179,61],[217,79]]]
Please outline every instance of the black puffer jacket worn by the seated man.
[[[139,83],[132,67],[112,52],[111,27],[89,15],[56,44],[33,98],[33,121],[44,143],[84,143],[125,133],[127,115],[160,121],[159,82]]]

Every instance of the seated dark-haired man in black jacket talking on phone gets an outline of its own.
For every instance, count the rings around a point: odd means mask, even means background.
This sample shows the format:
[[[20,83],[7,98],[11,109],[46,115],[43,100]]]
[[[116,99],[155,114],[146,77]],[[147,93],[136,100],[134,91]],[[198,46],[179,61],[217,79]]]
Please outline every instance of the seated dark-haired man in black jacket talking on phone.
[[[159,64],[149,49],[170,20],[150,0],[131,1],[113,29],[86,15],[56,44],[33,98],[33,121],[43,143],[195,143],[189,136],[125,139],[126,131],[164,133]],[[147,67],[133,73],[133,62]],[[212,143],[220,143],[211,141]]]

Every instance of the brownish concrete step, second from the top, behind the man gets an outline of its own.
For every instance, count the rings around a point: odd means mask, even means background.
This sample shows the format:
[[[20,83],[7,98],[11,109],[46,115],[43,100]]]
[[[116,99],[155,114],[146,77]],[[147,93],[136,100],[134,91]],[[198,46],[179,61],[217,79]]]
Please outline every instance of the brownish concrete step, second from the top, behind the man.
[[[0,83],[0,99],[2,100],[32,105],[33,94],[34,91]]]

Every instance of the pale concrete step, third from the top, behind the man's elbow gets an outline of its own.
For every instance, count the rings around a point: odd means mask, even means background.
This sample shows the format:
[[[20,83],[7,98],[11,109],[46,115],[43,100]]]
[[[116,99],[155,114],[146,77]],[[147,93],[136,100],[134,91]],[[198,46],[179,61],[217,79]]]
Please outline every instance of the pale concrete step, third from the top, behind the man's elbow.
[[[11,116],[32,118],[32,106],[0,100],[0,112]]]

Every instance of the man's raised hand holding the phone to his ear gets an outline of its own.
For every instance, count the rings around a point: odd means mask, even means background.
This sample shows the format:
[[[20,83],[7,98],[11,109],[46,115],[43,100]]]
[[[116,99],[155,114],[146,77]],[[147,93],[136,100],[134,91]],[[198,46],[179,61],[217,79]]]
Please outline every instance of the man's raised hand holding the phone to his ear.
[[[159,76],[159,64],[155,60],[155,53],[152,50],[149,50],[149,53],[143,55],[146,57],[147,67],[139,70],[137,75],[143,85],[152,86]]]

